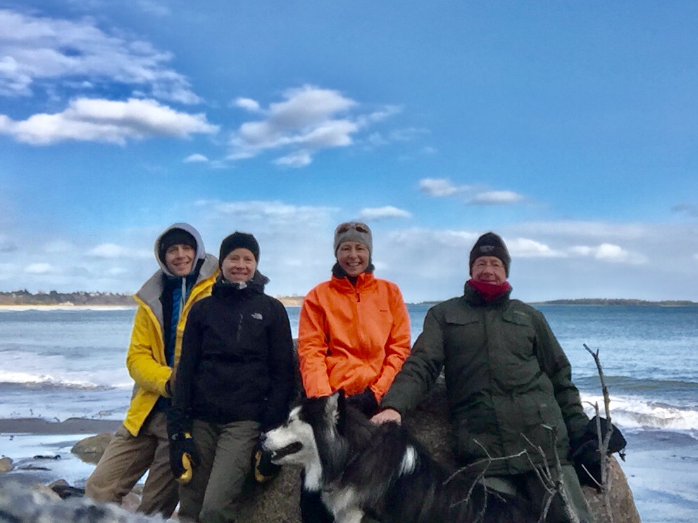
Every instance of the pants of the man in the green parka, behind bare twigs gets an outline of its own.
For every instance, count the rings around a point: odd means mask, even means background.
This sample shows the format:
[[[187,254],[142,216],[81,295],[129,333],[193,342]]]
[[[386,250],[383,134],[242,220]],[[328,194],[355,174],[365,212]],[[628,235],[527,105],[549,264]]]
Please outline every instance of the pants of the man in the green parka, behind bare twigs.
[[[579,484],[577,473],[572,465],[562,465],[562,483],[565,487],[572,510],[579,517],[580,523],[594,523],[587,499],[584,497],[582,486]],[[554,474],[554,471],[551,471]],[[542,510],[546,500],[547,491],[544,489],[540,478],[535,472],[528,474],[518,474],[516,476],[491,476],[481,480],[482,484],[490,489],[511,494],[513,496],[523,496],[531,501],[536,510]],[[546,522],[568,523],[571,519],[566,515],[563,500],[556,494],[550,503]]]

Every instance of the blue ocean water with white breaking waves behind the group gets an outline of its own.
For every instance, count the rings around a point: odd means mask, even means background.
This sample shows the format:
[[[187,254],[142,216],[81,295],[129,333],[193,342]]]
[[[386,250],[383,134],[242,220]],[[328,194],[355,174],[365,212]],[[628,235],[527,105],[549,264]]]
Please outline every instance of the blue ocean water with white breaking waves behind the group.
[[[643,521],[698,520],[698,307],[537,307],[572,363],[590,415],[593,403],[604,407],[584,344],[599,352]],[[296,336],[299,308],[287,310]],[[409,305],[413,340],[427,310]],[[125,353],[134,313],[0,310],[0,418],[122,419],[132,389]]]

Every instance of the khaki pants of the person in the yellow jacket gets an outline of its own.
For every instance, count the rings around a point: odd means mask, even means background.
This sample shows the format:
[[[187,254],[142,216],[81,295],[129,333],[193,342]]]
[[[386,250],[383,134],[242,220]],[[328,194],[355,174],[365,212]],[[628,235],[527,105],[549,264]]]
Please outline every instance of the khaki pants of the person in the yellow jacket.
[[[138,436],[122,425],[87,479],[85,493],[95,501],[121,503],[149,470],[138,512],[170,517],[177,506],[177,482],[170,470],[168,441],[163,412],[151,412]]]

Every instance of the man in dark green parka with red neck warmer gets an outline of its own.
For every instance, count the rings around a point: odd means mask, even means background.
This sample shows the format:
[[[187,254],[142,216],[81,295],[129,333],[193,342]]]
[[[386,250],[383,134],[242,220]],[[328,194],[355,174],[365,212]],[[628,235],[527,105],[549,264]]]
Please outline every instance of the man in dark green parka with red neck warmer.
[[[499,235],[487,232],[475,242],[463,296],[428,310],[423,332],[373,421],[400,422],[444,370],[456,458],[465,472],[490,489],[527,498],[542,512],[547,492],[535,468],[547,462],[554,471],[557,455],[569,505],[580,522],[590,523],[568,459],[571,442],[585,438],[590,420],[542,313],[509,298],[510,262]],[[561,496],[545,521],[573,521]]]

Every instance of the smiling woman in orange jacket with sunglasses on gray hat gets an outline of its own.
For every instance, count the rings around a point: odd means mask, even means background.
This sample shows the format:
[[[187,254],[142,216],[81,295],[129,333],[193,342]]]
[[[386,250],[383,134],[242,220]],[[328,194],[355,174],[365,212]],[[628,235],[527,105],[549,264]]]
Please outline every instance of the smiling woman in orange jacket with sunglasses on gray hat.
[[[361,222],[335,229],[332,277],[306,295],[298,359],[308,397],[342,389],[371,417],[410,353],[410,322],[397,285],[373,276],[373,236]],[[304,523],[332,522],[319,492],[301,489]]]

